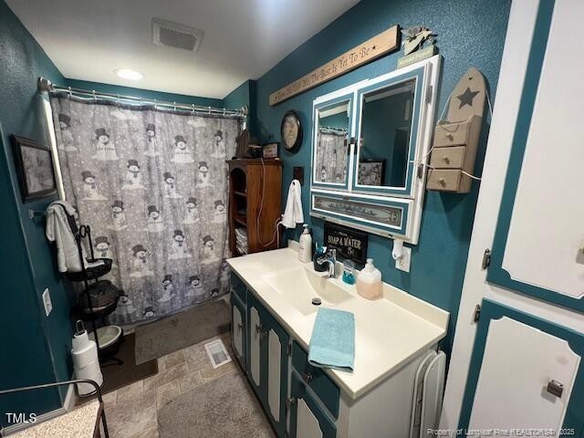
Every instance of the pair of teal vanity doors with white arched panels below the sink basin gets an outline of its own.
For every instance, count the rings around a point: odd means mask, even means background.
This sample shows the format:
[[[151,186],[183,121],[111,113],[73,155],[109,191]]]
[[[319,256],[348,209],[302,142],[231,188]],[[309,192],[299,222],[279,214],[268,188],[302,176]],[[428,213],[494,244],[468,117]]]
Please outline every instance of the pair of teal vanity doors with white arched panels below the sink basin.
[[[278,436],[286,433],[289,337],[250,293],[247,294],[247,378]]]

